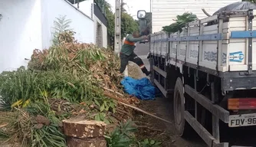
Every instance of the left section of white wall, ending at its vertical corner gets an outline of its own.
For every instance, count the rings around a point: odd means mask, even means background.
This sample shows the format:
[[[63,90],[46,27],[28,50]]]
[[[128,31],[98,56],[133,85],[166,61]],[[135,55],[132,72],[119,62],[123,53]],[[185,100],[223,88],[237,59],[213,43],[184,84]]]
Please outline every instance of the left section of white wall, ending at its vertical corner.
[[[25,66],[41,49],[41,0],[0,1],[0,73]]]

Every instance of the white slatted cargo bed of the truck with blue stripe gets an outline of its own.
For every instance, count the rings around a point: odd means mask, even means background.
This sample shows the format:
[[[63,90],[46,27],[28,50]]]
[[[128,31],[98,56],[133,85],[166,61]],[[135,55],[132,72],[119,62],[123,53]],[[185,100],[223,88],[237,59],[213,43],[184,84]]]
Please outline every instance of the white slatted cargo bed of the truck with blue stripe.
[[[193,21],[181,33],[151,34],[149,52],[176,66],[188,63],[218,72],[256,70],[256,19],[250,23],[248,17],[248,11],[237,11]],[[211,21],[218,24],[207,25]]]

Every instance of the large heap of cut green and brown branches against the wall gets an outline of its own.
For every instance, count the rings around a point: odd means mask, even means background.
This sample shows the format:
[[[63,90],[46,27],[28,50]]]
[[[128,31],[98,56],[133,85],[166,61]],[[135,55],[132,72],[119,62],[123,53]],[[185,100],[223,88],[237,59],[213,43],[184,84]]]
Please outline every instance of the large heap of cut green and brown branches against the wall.
[[[6,142],[61,147],[66,146],[63,119],[95,119],[113,124],[113,130],[133,117],[132,109],[120,102],[135,106],[139,101],[121,89],[118,57],[74,41],[73,34],[63,31],[59,44],[34,50],[28,69],[0,74],[0,138]]]

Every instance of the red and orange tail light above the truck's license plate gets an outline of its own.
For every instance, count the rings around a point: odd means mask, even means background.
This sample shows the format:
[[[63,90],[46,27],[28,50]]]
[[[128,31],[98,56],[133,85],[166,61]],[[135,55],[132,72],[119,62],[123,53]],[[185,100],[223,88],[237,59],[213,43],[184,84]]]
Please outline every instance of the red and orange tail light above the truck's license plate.
[[[256,98],[228,99],[228,109],[256,109]]]

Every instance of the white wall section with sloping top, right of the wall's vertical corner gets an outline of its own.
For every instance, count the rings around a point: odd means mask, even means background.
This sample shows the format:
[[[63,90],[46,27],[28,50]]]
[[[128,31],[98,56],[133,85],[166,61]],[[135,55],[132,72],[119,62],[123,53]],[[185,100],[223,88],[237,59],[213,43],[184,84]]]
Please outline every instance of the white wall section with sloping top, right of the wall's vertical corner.
[[[64,0],[41,0],[42,2],[42,28],[43,28],[43,47],[50,47],[52,32],[54,31],[54,20],[60,15],[66,15],[67,19],[71,19],[71,28],[76,34],[74,38],[77,41],[85,43],[94,42],[94,21],[81,11],[77,10],[73,5]]]

